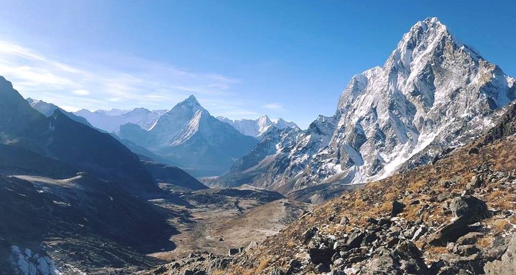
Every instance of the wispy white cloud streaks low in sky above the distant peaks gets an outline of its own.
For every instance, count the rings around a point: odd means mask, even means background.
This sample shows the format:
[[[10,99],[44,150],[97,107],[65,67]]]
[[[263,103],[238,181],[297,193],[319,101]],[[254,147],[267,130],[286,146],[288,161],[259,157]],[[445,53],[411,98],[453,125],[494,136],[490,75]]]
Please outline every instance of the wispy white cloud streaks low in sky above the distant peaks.
[[[123,72],[113,65],[80,60],[74,60],[80,65],[67,64],[18,43],[0,41],[0,75],[23,96],[52,102],[69,111],[170,109],[194,94],[215,115],[251,118],[258,114],[249,107],[259,104],[239,100],[231,91],[241,82],[239,79],[194,73],[134,57],[110,57],[110,63],[120,62]]]

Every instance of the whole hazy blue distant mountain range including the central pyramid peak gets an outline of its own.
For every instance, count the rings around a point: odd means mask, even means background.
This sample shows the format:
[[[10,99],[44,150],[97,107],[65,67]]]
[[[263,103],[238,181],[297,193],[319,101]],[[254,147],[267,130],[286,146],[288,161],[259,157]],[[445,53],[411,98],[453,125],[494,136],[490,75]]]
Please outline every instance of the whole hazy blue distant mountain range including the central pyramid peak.
[[[43,113],[57,109],[55,105],[43,105],[43,101],[27,100],[41,102],[35,104],[35,108]],[[252,138],[260,139],[272,128],[299,129],[293,122],[282,118],[271,121],[267,115],[254,120],[215,118],[193,95],[169,111],[135,108],[91,112],[83,109],[66,114],[72,119],[85,120],[95,128],[116,134],[120,142],[133,152],[179,166],[195,176],[224,173],[235,159],[244,156],[257,143]]]

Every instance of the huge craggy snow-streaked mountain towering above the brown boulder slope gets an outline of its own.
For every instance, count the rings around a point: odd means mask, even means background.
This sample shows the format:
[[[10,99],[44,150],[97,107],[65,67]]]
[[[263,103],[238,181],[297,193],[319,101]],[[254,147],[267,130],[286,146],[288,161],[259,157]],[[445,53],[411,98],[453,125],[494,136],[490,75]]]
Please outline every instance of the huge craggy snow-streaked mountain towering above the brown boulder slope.
[[[497,110],[516,97],[515,82],[437,18],[427,18],[412,26],[383,66],[352,77],[333,117],[320,116],[308,130],[284,136],[295,145],[277,146],[261,173],[237,181],[253,169],[233,169],[215,184],[288,193],[384,178],[492,127]]]

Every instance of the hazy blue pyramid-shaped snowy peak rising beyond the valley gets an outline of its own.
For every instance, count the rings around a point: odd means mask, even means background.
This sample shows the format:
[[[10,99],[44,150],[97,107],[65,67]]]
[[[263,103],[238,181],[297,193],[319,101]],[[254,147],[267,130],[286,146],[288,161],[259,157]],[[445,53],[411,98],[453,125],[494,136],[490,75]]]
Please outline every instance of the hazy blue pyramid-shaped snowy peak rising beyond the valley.
[[[193,95],[160,116],[149,130],[128,123],[119,135],[195,176],[222,174],[257,143],[210,115]]]

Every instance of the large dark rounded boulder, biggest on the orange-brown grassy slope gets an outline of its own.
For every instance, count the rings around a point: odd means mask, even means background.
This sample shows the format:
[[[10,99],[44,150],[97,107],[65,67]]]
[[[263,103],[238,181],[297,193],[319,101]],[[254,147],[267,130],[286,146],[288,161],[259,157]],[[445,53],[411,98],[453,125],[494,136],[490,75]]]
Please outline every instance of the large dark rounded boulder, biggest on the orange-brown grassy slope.
[[[473,196],[461,196],[453,199],[450,210],[456,217],[465,216],[468,224],[473,224],[489,216],[486,202]]]

